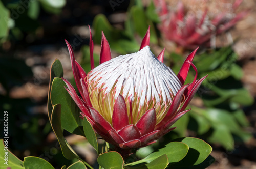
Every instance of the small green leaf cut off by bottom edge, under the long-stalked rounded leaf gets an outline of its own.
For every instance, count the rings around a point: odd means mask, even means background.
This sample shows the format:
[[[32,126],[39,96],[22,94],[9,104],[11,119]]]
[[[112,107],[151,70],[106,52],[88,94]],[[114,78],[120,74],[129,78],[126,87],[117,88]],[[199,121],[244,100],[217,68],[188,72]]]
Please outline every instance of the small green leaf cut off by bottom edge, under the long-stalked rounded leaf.
[[[161,155],[160,157],[156,158],[155,160],[151,161],[142,166],[131,167],[133,169],[164,169],[169,164],[168,158],[165,154]]]

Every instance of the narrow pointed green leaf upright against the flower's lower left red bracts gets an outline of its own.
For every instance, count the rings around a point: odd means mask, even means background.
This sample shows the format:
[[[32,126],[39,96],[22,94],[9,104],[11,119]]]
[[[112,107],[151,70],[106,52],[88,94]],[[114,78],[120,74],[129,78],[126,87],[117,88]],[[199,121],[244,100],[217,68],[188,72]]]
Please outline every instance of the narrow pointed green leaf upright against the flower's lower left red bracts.
[[[83,118],[83,131],[86,135],[88,142],[94,147],[94,149],[97,151],[97,154],[99,154],[96,134],[93,130],[92,125],[88,122],[86,117]]]

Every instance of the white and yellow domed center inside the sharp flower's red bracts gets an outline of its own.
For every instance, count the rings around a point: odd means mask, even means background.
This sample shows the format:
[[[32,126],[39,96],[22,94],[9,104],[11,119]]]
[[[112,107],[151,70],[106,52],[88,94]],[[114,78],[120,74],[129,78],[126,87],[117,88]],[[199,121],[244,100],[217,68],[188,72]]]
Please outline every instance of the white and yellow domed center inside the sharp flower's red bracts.
[[[119,94],[125,99],[130,124],[136,124],[151,108],[156,109],[157,122],[160,122],[181,88],[175,73],[160,62],[148,46],[91,70],[87,85],[93,107],[110,124]]]

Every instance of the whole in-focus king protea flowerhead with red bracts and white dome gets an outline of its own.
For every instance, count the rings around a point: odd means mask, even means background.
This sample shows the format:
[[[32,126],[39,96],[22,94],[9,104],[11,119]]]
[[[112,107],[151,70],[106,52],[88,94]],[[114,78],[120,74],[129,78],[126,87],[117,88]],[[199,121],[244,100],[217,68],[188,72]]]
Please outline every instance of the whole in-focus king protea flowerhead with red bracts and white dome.
[[[151,52],[150,31],[136,53],[111,58],[109,43],[102,32],[100,65],[94,68],[93,41],[90,30],[92,70],[86,74],[75,61],[66,41],[73,74],[81,97],[70,82],[67,91],[94,130],[108,143],[123,149],[155,143],[187,111],[186,106],[205,79],[184,85],[197,51],[188,55],[178,75],[163,64],[164,50],[156,58]],[[197,71],[196,71],[197,73]]]

